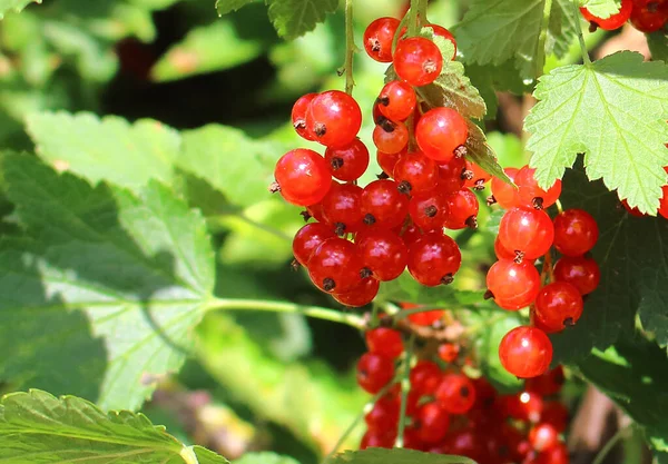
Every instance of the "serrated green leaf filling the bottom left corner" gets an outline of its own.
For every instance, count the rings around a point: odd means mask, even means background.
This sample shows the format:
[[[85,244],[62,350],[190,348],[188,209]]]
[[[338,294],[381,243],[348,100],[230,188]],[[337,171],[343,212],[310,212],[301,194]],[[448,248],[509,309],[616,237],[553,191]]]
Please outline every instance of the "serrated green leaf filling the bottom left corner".
[[[143,414],[102,413],[75,396],[12,393],[0,403],[0,460],[7,464],[227,464],[188,447]]]

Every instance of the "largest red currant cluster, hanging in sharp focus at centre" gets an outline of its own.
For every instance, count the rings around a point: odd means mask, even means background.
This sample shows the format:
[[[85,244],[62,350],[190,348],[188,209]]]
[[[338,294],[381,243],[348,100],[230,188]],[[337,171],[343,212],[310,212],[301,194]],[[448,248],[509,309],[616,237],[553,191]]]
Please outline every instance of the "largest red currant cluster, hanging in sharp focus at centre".
[[[347,306],[370,303],[381,282],[406,267],[425,286],[450,284],[461,254],[443,228],[477,226],[478,198],[470,187],[489,178],[464,159],[468,121],[451,108],[425,108],[415,92],[440,75],[439,47],[399,31],[393,52],[399,24],[380,18],[364,33],[369,56],[392,62],[399,77],[383,87],[373,108],[379,180],[357,185],[370,161],[357,138],[362,112],[353,97],[336,90],[305,95],[292,112],[297,134],[324,145],[324,157],[294,149],[274,171],[272,189],[316,220],[296,234],[295,261],[315,286]],[[446,29],[430,27],[454,43]]]

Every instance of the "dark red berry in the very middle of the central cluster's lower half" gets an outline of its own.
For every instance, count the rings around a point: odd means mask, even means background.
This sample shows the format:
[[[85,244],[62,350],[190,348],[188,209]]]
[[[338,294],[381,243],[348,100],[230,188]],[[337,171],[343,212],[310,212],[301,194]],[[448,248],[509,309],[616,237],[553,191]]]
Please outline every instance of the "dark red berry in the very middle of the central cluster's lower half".
[[[404,221],[409,198],[401,194],[393,180],[374,180],[364,187],[362,213],[367,226],[391,229]]]

